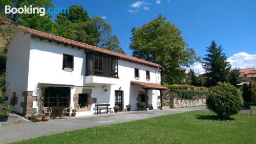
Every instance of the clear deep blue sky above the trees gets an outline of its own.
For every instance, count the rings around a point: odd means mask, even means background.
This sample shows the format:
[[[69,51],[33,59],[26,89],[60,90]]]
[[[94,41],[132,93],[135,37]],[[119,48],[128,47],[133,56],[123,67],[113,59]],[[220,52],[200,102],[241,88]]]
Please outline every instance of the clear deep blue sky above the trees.
[[[131,55],[131,29],[141,27],[160,13],[182,32],[188,46],[204,56],[212,40],[221,44],[229,58],[252,59],[256,67],[256,1],[190,0],[54,0],[56,7],[82,5],[90,16],[104,16],[120,46]],[[241,53],[242,52],[242,53]],[[237,55],[234,55],[237,54]],[[247,55],[249,54],[249,55]],[[252,56],[252,57],[251,57]],[[237,64],[243,67],[243,62]],[[255,64],[253,64],[255,63]]]

